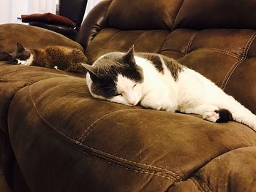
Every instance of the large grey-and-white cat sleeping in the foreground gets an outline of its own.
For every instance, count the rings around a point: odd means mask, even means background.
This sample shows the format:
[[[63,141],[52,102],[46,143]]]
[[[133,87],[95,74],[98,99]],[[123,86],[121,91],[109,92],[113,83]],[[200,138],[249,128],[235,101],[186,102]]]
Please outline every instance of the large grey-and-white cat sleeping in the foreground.
[[[82,64],[91,96],[153,110],[201,115],[224,123],[235,120],[256,131],[256,115],[203,75],[156,53],[102,55],[94,64]]]

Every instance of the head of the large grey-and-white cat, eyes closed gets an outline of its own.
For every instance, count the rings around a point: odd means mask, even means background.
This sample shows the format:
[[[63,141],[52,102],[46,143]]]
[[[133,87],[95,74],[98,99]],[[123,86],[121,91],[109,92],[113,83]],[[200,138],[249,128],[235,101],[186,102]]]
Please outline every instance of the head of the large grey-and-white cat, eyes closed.
[[[143,69],[136,64],[133,47],[127,53],[108,53],[92,64],[86,82],[91,95],[116,103],[135,106],[141,99]]]

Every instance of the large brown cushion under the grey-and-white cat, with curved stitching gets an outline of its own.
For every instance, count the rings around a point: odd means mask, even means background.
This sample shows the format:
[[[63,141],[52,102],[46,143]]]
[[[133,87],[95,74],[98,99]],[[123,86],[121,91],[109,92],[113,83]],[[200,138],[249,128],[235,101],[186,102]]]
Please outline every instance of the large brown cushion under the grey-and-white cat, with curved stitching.
[[[31,191],[166,191],[219,155],[256,145],[240,123],[94,99],[79,77],[20,90],[8,126]]]

